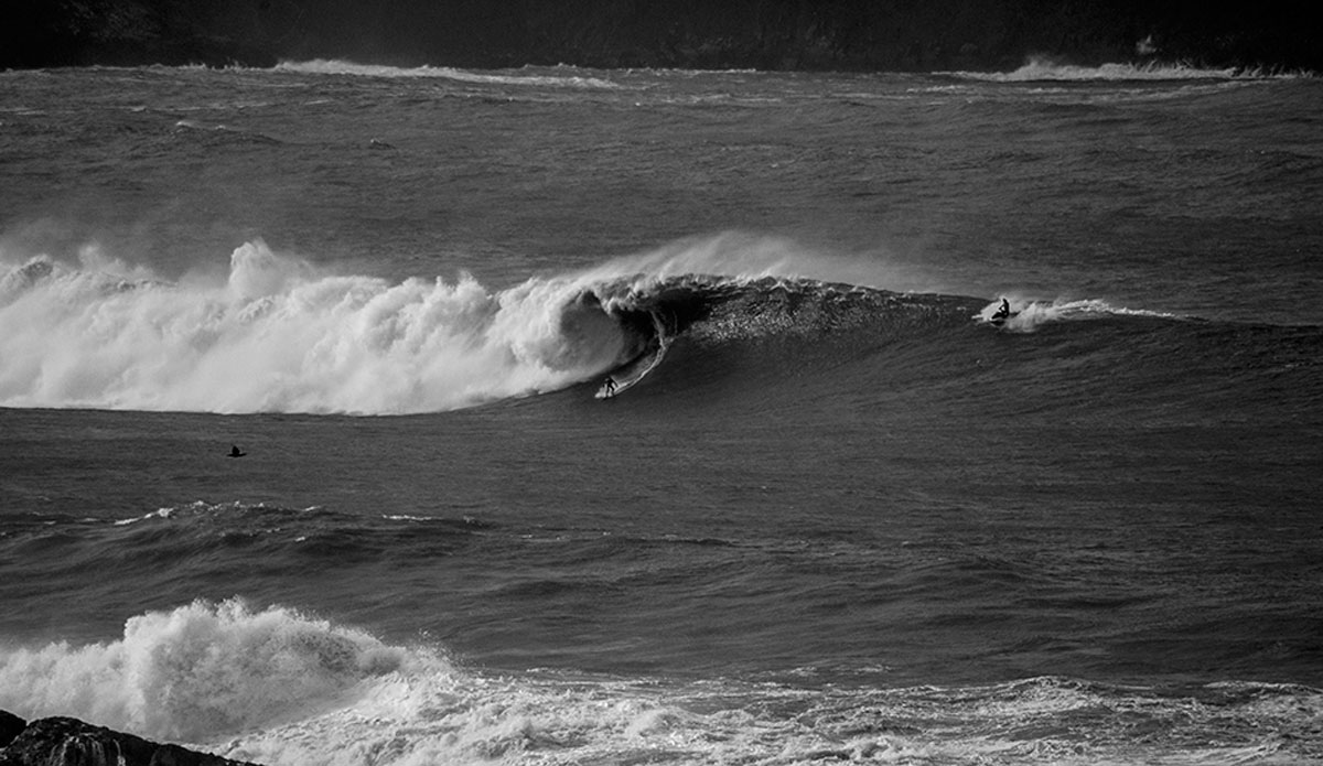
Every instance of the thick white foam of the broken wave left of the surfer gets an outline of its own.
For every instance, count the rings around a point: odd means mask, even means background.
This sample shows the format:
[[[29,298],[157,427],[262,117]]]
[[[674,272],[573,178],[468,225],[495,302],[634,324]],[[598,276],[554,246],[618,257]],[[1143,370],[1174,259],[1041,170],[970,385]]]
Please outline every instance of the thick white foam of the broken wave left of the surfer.
[[[415,413],[548,392],[632,340],[573,306],[581,279],[490,292],[320,273],[261,242],[222,284],[165,283],[87,249],[0,278],[0,406]]]

